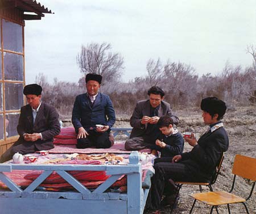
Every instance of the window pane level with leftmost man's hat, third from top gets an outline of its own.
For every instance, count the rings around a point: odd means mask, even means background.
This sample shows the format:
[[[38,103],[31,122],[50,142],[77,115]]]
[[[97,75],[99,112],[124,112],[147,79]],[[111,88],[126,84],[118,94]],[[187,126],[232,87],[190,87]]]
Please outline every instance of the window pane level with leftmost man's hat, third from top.
[[[5,110],[19,110],[23,106],[23,84],[5,83]]]

